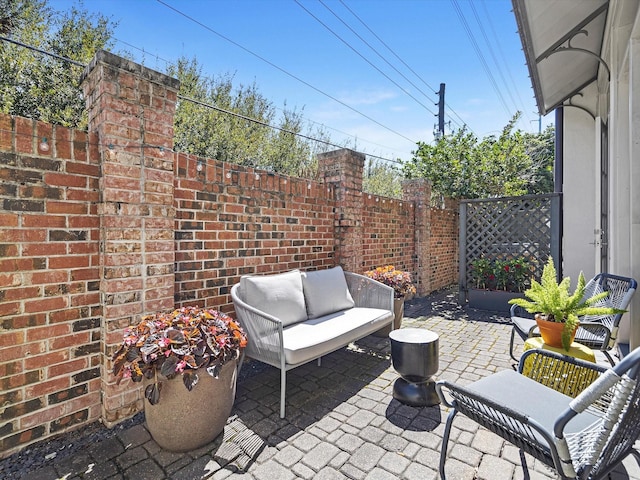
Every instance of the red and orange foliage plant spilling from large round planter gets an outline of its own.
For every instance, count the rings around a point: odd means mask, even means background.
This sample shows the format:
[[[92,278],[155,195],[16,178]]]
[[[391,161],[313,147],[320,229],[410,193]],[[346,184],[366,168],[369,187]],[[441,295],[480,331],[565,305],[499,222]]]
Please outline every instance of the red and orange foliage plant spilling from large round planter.
[[[198,371],[218,377],[222,365],[240,357],[247,336],[229,315],[211,309],[182,307],[169,313],[146,315],[124,332],[122,346],[113,355],[113,373],[140,382],[153,379],[145,397],[155,405],[162,383],[182,375],[188,390],[198,383]]]

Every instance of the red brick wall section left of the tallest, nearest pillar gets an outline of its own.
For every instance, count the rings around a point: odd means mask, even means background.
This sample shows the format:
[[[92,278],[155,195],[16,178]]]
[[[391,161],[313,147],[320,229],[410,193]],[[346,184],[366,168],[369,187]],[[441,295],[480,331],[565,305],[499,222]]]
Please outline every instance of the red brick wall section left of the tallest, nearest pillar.
[[[0,115],[1,452],[100,417],[96,144]]]

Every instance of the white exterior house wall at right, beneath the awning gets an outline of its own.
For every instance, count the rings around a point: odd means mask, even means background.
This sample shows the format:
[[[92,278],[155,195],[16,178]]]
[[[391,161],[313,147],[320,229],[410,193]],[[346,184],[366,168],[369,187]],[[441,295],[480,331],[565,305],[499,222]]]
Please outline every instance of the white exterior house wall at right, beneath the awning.
[[[609,132],[608,271],[640,280],[640,12],[637,1],[612,0],[600,79],[576,97],[595,107]],[[564,107],[563,273],[587,278],[600,269],[600,128],[586,112]],[[640,346],[640,292],[623,318],[620,343]]]

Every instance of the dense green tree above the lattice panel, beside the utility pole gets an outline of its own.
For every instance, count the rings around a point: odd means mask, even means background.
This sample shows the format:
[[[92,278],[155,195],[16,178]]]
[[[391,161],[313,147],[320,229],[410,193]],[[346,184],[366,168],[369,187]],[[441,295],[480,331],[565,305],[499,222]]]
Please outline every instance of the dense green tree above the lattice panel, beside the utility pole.
[[[492,135],[478,141],[474,134],[461,129],[441,137],[434,145],[419,142],[412,159],[404,165],[404,175],[428,178],[434,194],[453,198],[542,193],[546,163],[536,163],[533,153],[541,151],[545,143],[534,142],[531,136],[514,130],[519,115],[498,137]],[[537,158],[541,160],[542,154]]]

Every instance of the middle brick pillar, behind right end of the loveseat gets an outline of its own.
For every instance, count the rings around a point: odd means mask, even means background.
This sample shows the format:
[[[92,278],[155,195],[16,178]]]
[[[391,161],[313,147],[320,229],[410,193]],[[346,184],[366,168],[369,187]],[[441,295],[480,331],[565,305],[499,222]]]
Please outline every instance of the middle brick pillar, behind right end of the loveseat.
[[[318,177],[335,189],[336,265],[362,272],[364,154],[346,148],[318,155]]]

